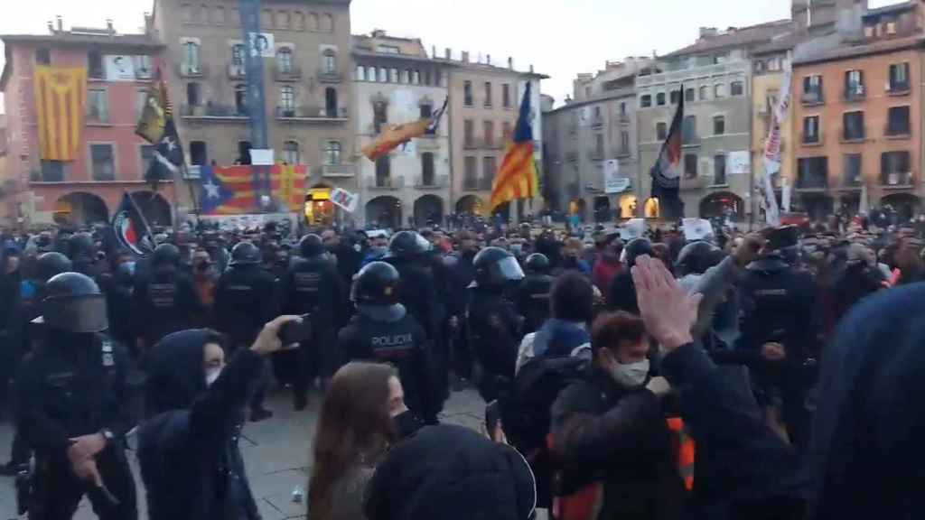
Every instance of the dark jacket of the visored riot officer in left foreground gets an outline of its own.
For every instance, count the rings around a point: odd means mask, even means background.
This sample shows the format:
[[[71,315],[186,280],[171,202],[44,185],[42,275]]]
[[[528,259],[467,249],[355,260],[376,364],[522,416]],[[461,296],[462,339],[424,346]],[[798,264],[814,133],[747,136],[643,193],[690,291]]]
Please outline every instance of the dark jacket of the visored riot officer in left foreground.
[[[67,461],[69,439],[110,430],[122,438],[137,418],[125,349],[104,334],[48,331],[19,367],[19,434],[36,452]]]

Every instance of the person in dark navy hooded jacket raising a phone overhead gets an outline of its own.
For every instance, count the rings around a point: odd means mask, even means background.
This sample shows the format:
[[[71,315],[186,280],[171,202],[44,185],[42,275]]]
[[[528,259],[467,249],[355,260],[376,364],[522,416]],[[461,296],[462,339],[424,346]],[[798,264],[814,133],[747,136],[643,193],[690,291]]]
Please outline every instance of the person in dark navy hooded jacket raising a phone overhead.
[[[148,419],[139,428],[138,459],[151,520],[257,520],[238,445],[248,389],[263,356],[281,347],[266,324],[249,349],[225,364],[221,336],[191,329],[161,340],[149,358]]]

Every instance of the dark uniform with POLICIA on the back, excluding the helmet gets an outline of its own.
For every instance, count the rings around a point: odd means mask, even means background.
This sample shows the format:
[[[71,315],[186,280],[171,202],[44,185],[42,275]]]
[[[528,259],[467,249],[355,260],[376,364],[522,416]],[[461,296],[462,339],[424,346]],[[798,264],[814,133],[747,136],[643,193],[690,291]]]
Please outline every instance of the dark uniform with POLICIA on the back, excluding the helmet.
[[[373,319],[361,307],[350,325],[340,330],[340,352],[345,361],[395,365],[408,409],[426,422],[436,422],[442,392],[437,388],[424,328],[401,305],[396,311],[390,319]]]

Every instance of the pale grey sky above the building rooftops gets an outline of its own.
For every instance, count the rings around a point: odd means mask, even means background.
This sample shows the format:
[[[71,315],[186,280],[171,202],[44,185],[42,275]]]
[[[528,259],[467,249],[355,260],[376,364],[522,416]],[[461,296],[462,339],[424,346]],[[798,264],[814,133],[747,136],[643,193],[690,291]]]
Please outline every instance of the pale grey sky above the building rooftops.
[[[45,33],[48,20],[138,31],[153,0],[92,0],[93,9],[74,0],[3,0],[0,34]],[[899,0],[870,0],[871,7]],[[538,7],[537,7],[538,6]],[[696,6],[696,8],[692,8]],[[105,15],[103,14],[105,13]],[[790,0],[353,0],[354,34],[383,29],[417,37],[428,52],[450,47],[492,62],[550,76],[542,90],[561,104],[580,72],[596,72],[607,60],[660,55],[694,43],[699,27],[742,27],[790,16]],[[102,18],[99,18],[102,17]],[[0,54],[0,66],[3,55]],[[0,105],[2,110],[2,105]]]

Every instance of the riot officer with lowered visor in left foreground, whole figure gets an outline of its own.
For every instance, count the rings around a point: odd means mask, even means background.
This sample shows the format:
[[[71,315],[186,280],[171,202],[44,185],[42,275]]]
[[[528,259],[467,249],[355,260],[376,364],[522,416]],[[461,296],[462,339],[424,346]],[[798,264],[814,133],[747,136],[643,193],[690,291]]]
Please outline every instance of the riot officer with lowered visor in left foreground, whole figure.
[[[124,436],[135,424],[124,349],[109,340],[105,298],[93,279],[63,273],[48,281],[42,345],[17,380],[19,425],[36,453],[32,520],[70,518],[84,494],[102,519],[137,517]],[[93,456],[103,487],[76,476],[74,439],[99,436]]]

